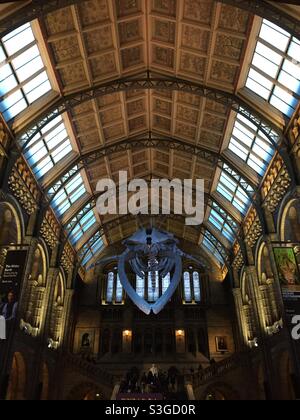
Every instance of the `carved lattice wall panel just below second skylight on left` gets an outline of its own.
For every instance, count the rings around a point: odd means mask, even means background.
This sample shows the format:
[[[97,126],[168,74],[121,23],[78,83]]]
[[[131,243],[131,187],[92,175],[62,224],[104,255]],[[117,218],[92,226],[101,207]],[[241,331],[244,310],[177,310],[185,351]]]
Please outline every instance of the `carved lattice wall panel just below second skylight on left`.
[[[8,185],[28,215],[31,215],[37,210],[40,191],[22,157],[17,160],[12,169]]]

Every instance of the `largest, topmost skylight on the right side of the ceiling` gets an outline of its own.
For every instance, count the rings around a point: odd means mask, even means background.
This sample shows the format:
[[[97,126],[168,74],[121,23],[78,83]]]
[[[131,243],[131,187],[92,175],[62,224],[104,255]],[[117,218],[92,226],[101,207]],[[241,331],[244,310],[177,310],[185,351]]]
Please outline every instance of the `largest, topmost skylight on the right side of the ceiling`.
[[[300,99],[300,41],[264,20],[246,87],[291,117]]]

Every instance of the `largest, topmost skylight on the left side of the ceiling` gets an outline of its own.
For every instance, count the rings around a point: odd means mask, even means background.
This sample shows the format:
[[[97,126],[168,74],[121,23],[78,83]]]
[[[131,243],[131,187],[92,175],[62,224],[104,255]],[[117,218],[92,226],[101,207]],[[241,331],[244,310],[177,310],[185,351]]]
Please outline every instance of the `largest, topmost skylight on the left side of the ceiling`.
[[[30,23],[0,40],[0,112],[10,121],[52,89]]]

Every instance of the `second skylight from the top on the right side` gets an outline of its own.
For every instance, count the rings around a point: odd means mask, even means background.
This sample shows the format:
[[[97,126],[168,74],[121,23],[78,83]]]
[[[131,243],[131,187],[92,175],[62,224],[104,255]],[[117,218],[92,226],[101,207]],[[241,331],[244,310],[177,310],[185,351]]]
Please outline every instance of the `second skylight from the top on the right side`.
[[[238,114],[232,131],[229,150],[263,176],[274,155],[269,139],[247,118]]]

